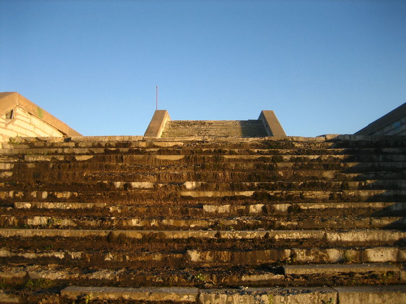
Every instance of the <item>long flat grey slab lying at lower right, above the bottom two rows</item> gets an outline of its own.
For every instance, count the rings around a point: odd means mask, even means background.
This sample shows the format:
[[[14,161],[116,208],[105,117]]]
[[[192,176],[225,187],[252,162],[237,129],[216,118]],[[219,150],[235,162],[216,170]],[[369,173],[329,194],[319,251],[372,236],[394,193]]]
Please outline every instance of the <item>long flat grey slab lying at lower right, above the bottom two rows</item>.
[[[285,275],[331,275],[336,273],[376,273],[400,271],[396,265],[387,263],[284,265],[283,269]]]

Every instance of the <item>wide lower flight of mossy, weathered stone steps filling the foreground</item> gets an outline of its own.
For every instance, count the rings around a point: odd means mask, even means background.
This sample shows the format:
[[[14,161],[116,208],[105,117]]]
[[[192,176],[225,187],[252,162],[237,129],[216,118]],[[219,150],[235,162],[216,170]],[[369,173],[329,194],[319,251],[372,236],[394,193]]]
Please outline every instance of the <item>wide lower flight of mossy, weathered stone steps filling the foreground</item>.
[[[404,137],[0,152],[0,302],[406,302]]]

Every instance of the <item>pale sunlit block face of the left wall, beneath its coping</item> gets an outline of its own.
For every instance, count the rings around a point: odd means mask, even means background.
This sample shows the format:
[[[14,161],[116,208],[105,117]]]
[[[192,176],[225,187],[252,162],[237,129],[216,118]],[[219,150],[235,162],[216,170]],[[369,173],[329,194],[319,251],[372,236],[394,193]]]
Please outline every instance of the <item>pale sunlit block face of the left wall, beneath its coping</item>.
[[[63,136],[58,129],[23,108],[17,106],[13,111],[13,119],[6,119],[6,113],[0,116],[0,141],[5,142],[9,137],[16,136]]]

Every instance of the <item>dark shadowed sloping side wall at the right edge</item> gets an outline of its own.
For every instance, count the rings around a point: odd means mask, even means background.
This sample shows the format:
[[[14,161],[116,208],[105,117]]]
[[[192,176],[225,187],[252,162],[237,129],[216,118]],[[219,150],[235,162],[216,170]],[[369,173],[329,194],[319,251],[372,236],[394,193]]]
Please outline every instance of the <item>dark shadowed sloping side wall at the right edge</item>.
[[[355,135],[406,135],[406,103],[390,111]]]

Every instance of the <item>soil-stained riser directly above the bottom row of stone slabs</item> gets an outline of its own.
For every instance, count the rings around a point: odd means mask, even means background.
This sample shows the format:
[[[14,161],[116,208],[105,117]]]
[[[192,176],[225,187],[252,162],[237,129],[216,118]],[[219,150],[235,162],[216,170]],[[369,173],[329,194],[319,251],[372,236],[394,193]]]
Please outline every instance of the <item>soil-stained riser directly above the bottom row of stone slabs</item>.
[[[185,272],[185,271],[184,271]],[[403,281],[399,279],[399,273],[376,272],[376,273],[360,273],[353,275],[351,280],[348,280],[348,274],[331,274],[331,275],[312,275],[306,277],[297,277],[295,280],[287,279],[284,275],[275,274],[256,274],[256,275],[217,275],[211,274],[209,271],[201,271],[195,273],[194,270],[186,270],[188,273],[183,274],[158,274],[158,275],[143,275],[131,273],[129,271],[124,273],[89,273],[89,274],[76,274],[65,272],[31,272],[29,275],[21,273],[19,276],[10,276],[9,274],[3,275],[0,273],[0,280],[6,284],[19,284],[26,283],[30,278],[32,279],[49,279],[55,284],[66,286],[71,282],[82,286],[184,286],[184,287],[199,287],[206,283],[212,287],[239,287],[241,284],[244,286],[252,287],[271,287],[271,286],[353,286],[353,285],[366,285],[371,282],[380,281],[381,284],[401,284]],[[24,275],[24,277],[22,277]],[[196,278],[197,277],[197,278]],[[377,280],[377,277],[379,278]],[[201,279],[200,279],[201,278]],[[312,282],[312,283],[309,283]],[[315,285],[313,285],[313,282]]]

